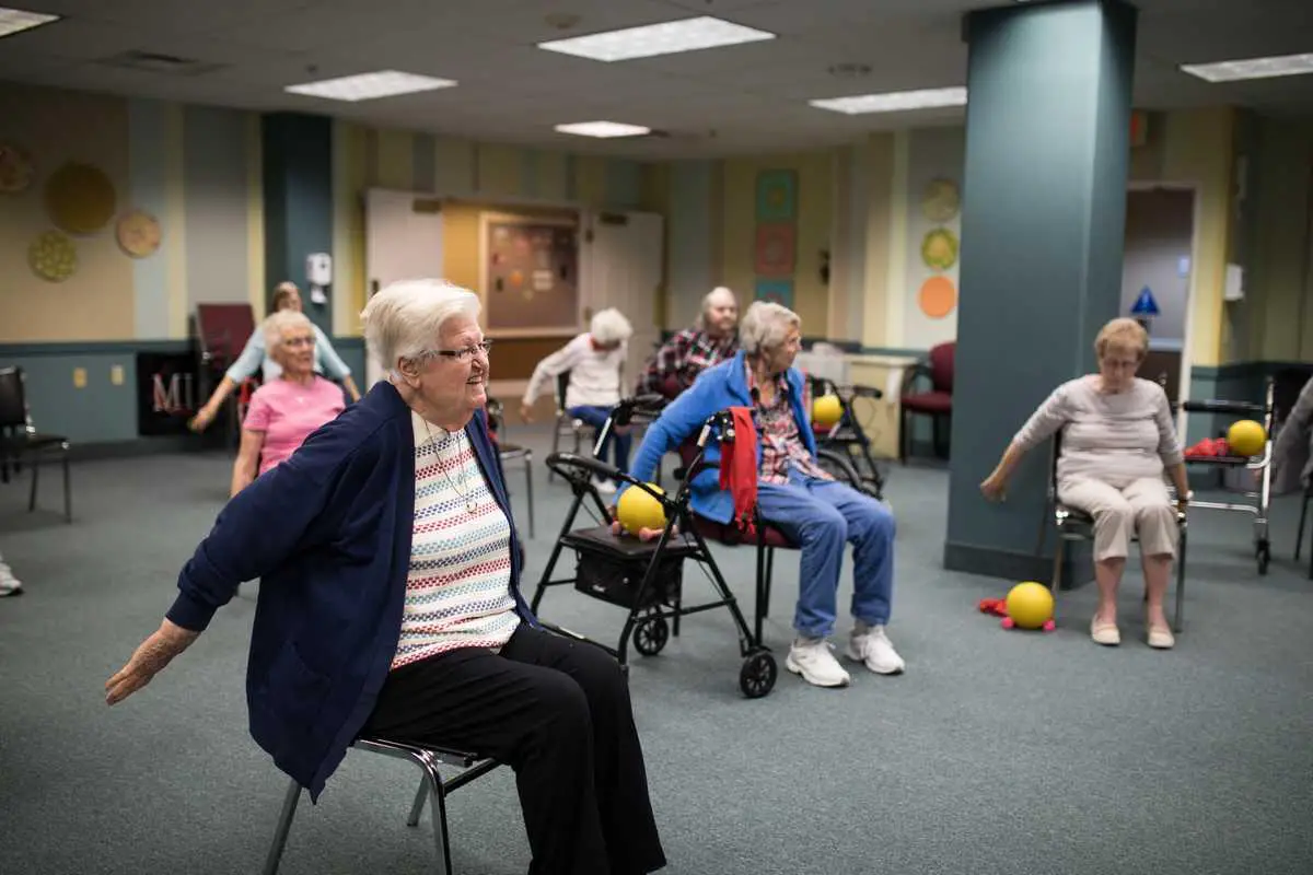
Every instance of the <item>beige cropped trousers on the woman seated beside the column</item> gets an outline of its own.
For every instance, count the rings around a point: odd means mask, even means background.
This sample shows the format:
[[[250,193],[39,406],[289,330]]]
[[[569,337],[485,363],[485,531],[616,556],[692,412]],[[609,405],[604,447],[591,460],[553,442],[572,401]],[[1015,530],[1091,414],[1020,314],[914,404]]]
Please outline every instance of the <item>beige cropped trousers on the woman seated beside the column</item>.
[[[1067,478],[1058,500],[1094,517],[1094,559],[1125,559],[1132,534],[1140,535],[1144,556],[1175,556],[1180,530],[1176,509],[1162,478],[1141,478],[1124,489],[1094,478]]]

